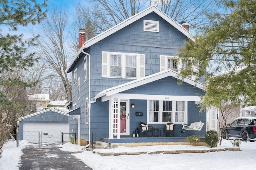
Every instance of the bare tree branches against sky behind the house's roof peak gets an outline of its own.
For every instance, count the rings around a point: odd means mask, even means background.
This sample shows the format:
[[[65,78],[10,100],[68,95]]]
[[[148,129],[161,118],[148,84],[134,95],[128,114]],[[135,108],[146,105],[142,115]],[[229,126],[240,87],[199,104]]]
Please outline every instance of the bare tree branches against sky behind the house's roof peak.
[[[153,5],[176,22],[186,21],[192,27],[196,27],[206,22],[206,14],[212,12],[215,7],[215,1],[208,0],[90,0],[89,2],[88,7],[81,2],[76,4],[76,21],[78,23],[81,20],[90,21],[97,33]]]

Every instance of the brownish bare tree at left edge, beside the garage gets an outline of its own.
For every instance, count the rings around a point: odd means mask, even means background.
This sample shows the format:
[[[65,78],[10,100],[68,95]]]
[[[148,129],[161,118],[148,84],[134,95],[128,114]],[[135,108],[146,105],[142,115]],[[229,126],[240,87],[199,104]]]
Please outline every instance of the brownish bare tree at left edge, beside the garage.
[[[23,79],[23,69],[15,68],[13,72],[6,71],[1,73],[2,82],[6,86],[0,86],[0,91],[6,94],[6,98],[12,101],[14,106],[0,104],[0,148],[6,142],[10,131],[15,131],[18,118],[31,114],[35,110],[32,101],[28,100],[26,87],[19,83]],[[10,79],[15,80],[16,86],[12,86]],[[10,83],[8,85],[8,83]]]

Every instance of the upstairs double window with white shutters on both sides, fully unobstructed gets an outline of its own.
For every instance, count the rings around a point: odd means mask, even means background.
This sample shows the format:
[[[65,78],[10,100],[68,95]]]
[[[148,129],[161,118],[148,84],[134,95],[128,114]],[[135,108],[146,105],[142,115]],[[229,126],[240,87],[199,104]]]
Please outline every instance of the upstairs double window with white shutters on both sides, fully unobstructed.
[[[102,51],[102,77],[141,78],[144,76],[144,54]]]

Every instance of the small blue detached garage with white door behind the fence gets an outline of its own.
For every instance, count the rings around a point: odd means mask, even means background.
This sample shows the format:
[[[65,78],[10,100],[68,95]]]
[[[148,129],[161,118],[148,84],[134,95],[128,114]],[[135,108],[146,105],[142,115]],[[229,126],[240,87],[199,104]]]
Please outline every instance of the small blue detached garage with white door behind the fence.
[[[46,109],[24,117],[19,121],[19,140],[28,142],[60,142],[62,133],[69,133],[68,115],[54,109]]]

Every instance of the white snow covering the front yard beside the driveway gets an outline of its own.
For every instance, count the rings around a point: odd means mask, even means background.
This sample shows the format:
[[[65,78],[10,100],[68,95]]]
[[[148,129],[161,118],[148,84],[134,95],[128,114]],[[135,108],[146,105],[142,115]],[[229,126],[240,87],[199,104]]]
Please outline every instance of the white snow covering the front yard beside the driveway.
[[[26,141],[22,141],[26,143]],[[222,141],[222,146],[216,148],[230,148],[232,143],[228,140]],[[140,154],[122,156],[100,156],[91,151],[82,150],[82,146],[66,143],[60,145],[61,150],[83,151],[74,153],[85,164],[93,170],[216,170],[232,169],[244,170],[256,167],[256,142],[241,142],[242,151],[222,151],[189,154]],[[148,147],[118,147],[111,149],[113,152],[138,152],[138,151],[159,151],[159,150],[192,150],[210,149],[209,147],[193,147],[183,145],[158,145]],[[97,149],[104,152],[106,149]],[[0,158],[0,170],[18,170],[22,148],[3,147]]]

